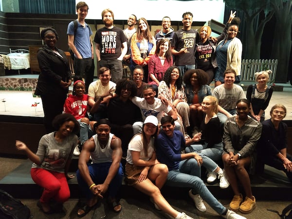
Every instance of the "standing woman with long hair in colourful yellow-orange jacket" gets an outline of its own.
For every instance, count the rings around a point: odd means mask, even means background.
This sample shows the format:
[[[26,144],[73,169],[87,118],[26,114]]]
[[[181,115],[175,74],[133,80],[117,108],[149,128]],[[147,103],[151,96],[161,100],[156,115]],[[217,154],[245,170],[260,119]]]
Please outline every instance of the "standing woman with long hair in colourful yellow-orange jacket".
[[[145,18],[139,18],[137,21],[137,32],[131,38],[131,73],[136,65],[141,65],[144,69],[144,80],[148,79],[148,62],[151,55],[156,51],[156,40],[151,35],[148,22]]]

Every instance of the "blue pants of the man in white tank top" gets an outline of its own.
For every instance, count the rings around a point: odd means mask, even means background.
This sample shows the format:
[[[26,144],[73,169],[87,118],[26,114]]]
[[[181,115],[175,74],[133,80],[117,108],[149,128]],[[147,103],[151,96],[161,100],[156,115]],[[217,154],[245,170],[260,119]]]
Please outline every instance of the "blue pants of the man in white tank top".
[[[102,184],[106,180],[108,174],[109,174],[109,169],[110,165],[112,163],[100,163],[100,164],[88,164],[88,170],[90,177],[92,181],[97,185],[97,184]],[[115,198],[121,185],[122,185],[122,180],[123,180],[123,166],[120,163],[120,167],[118,169],[118,172],[112,179],[109,185],[109,196],[111,198]],[[88,184],[84,181],[82,178],[79,169],[76,172],[76,177],[77,177],[77,182],[79,187],[81,188],[83,194],[86,196],[87,199],[91,199],[93,197],[93,194],[91,190],[89,189]]]

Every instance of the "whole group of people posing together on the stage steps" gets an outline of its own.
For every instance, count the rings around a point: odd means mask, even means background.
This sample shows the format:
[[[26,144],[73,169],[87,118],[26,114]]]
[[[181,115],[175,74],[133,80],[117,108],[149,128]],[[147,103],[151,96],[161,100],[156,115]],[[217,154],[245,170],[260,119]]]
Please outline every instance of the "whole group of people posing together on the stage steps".
[[[54,212],[51,200],[62,205],[70,197],[66,180],[74,177],[68,175],[73,153],[79,155],[76,176],[88,200],[78,209],[78,217],[105,195],[119,213],[117,193],[124,174],[126,183],[148,195],[156,209],[176,219],[191,217],[164,199],[160,192],[164,184],[190,188],[188,195],[201,212],[206,211],[206,201],[223,218],[244,219],[236,212],[247,214],[256,207],[249,174],[255,173],[257,162],[284,171],[292,182],[287,125],[282,122],[286,108],[275,105],[271,119],[264,121],[273,93],[267,85],[271,72],[256,73],[256,84],[246,95],[235,84],[242,50],[235,13],[217,38],[210,37],[208,26],[193,30],[190,12],[183,14],[183,29],[178,32],[164,17],[163,29],[153,37],[145,18],[130,15],[128,28],[122,31],[113,26],[112,11],[105,9],[105,27],[94,37],[100,69],[93,81],[88,9],[85,2],[78,2],[77,22],[68,25],[75,56],[73,94],[68,97],[72,78],[66,55],[55,47],[58,34],[53,28],[41,31],[45,45],[37,54],[41,73],[36,94],[42,99],[47,134],[36,154],[16,142],[34,162],[31,175],[44,188],[37,203],[44,213]],[[121,79],[123,64],[129,65],[133,80]],[[216,87],[211,91],[213,79]],[[230,210],[206,187],[202,166],[207,183],[218,179],[220,188],[231,186]]]

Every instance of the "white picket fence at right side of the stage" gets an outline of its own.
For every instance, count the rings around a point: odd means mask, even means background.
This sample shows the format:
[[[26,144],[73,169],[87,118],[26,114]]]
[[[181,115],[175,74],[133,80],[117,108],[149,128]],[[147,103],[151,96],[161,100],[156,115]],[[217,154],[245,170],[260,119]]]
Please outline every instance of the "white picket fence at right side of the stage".
[[[243,59],[241,62],[240,81],[255,81],[255,73],[270,69],[269,83],[274,82],[278,59]]]

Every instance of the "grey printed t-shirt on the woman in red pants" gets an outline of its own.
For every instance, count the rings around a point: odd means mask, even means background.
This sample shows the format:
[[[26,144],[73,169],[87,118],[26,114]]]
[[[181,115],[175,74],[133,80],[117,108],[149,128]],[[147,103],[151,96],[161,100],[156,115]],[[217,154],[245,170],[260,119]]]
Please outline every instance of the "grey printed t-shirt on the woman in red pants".
[[[64,173],[68,159],[72,159],[73,150],[77,144],[77,136],[71,133],[62,142],[55,140],[55,132],[41,137],[38,143],[37,156],[41,164],[33,163],[32,168],[43,168]]]

